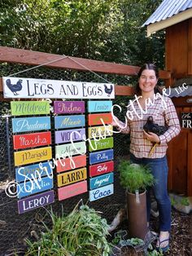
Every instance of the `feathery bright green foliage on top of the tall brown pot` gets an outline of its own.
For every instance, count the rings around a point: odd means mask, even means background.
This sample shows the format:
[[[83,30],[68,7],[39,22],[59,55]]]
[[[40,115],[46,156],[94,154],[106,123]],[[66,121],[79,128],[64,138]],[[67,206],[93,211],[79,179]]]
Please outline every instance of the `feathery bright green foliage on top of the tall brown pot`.
[[[155,183],[155,179],[146,166],[130,164],[129,161],[120,161],[118,166],[120,171],[120,184],[129,192],[136,190],[143,192],[148,186]]]

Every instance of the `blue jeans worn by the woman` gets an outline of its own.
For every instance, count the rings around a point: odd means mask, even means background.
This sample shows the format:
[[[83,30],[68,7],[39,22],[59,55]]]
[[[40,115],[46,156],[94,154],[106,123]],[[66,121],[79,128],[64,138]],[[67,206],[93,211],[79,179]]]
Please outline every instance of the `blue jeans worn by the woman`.
[[[162,158],[137,158],[130,153],[130,161],[135,164],[148,166],[156,179],[152,187],[159,209],[159,231],[171,230],[171,202],[168,196],[168,162],[167,157]],[[151,214],[151,188],[146,192],[147,221]]]

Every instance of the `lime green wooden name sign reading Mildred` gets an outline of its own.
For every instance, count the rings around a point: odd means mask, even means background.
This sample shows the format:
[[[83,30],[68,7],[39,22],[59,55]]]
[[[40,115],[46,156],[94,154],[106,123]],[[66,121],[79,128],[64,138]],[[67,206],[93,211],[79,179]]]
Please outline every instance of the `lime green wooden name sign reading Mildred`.
[[[44,115],[50,113],[48,101],[11,101],[12,116]]]

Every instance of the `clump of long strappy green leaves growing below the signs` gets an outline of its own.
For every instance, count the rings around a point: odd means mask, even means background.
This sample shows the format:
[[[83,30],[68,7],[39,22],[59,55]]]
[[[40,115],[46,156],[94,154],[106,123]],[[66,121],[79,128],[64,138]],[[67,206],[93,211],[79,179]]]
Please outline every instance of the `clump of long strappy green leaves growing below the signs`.
[[[87,205],[76,208],[68,216],[50,212],[53,227],[46,227],[41,240],[28,243],[26,256],[107,256],[110,251],[106,236],[107,221]]]

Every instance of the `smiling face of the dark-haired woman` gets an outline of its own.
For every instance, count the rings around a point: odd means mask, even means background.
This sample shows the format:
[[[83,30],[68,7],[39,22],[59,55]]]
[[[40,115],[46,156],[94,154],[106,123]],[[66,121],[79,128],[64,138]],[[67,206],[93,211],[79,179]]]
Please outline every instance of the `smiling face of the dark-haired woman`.
[[[157,82],[158,79],[153,69],[144,69],[142,71],[141,77],[138,79],[139,87],[142,92],[154,91]]]

